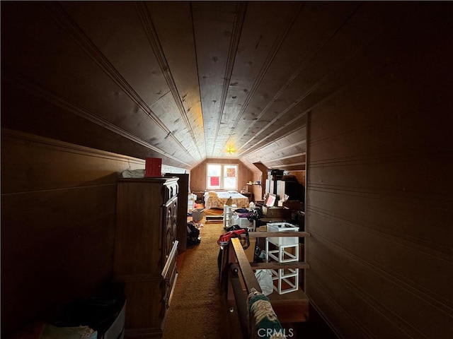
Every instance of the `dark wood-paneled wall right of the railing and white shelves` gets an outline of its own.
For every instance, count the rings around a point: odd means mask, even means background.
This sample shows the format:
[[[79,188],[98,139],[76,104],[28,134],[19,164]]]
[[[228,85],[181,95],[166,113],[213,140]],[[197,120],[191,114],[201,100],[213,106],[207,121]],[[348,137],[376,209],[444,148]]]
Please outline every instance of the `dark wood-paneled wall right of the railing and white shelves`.
[[[453,40],[443,14],[411,13],[417,25],[392,32],[381,65],[309,117],[306,294],[340,338],[453,333]]]

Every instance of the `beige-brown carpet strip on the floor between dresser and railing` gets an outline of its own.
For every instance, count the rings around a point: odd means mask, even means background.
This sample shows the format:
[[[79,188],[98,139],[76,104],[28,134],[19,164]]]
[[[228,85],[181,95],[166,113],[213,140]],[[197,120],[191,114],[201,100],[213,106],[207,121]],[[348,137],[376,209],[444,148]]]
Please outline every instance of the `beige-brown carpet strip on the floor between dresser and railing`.
[[[178,258],[178,280],[173,292],[164,339],[239,338],[231,331],[231,314],[219,292],[217,239],[225,232],[223,222],[205,222],[201,243]]]

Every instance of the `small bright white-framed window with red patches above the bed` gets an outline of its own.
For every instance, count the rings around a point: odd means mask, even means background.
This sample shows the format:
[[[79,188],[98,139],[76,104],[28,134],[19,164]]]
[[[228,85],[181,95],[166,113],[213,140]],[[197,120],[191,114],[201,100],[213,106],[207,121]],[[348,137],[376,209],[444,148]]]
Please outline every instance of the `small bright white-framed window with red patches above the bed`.
[[[238,165],[207,164],[207,189],[233,189],[238,187]]]

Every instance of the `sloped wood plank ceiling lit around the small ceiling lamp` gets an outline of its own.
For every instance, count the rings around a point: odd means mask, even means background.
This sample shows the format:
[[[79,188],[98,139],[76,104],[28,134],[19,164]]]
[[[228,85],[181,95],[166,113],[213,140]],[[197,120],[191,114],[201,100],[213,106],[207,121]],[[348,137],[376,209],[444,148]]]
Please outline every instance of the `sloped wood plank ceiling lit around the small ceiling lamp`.
[[[413,6],[1,1],[2,126],[185,169],[305,169],[307,113]]]

